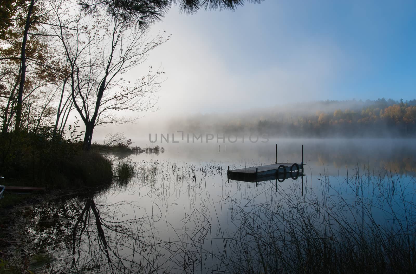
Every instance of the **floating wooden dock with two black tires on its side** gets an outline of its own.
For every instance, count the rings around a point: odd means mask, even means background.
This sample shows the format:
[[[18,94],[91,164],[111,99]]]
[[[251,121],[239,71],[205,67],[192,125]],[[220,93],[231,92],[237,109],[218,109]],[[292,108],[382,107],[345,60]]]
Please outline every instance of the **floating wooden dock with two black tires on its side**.
[[[306,176],[303,174],[303,165],[302,163],[276,163],[228,170],[228,179],[245,182],[262,182],[267,180],[282,182],[285,179],[297,179],[298,177]]]

